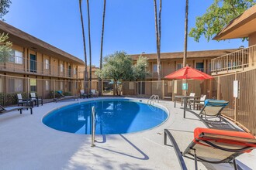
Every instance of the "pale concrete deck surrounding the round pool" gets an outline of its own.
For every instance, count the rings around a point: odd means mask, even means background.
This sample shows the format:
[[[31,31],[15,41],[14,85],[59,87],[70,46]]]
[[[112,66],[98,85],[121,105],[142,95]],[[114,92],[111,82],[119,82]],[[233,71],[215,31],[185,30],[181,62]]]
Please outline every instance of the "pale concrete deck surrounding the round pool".
[[[0,114],[0,170],[180,169],[174,149],[164,145],[164,128],[180,133],[175,138],[184,141],[179,144],[181,151],[189,145],[186,141],[192,141],[194,128],[205,128],[189,112],[184,119],[180,104],[175,108],[173,102],[166,100],[159,102],[170,113],[164,124],[133,134],[96,135],[94,148],[91,147],[89,134],[57,131],[42,123],[43,116],[50,110],[87,100],[95,99],[43,104],[34,107],[32,115],[29,110],[23,110],[22,114],[19,111]],[[256,169],[255,150],[240,155],[237,160],[247,165],[248,169]],[[189,169],[195,169],[192,160],[185,158],[185,162]],[[230,169],[228,165],[206,165],[199,162],[199,169],[207,168]]]

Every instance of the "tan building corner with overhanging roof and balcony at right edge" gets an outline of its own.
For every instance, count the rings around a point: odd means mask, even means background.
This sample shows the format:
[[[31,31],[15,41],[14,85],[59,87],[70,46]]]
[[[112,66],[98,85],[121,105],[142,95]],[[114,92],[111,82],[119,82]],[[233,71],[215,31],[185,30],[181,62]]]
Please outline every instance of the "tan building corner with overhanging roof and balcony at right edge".
[[[256,5],[232,20],[213,39],[248,38],[248,47],[212,59],[213,75],[251,70],[256,67]]]

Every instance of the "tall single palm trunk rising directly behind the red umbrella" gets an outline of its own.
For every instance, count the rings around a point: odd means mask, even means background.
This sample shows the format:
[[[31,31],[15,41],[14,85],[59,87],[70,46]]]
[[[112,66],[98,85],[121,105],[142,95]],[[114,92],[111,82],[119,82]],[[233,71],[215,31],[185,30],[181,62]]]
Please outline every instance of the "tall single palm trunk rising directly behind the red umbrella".
[[[189,15],[189,0],[185,2],[185,39],[184,39],[184,56],[183,56],[183,67],[186,66],[187,49],[188,49],[188,15]],[[183,83],[187,83],[183,80]],[[187,90],[184,90],[184,95],[187,95]]]

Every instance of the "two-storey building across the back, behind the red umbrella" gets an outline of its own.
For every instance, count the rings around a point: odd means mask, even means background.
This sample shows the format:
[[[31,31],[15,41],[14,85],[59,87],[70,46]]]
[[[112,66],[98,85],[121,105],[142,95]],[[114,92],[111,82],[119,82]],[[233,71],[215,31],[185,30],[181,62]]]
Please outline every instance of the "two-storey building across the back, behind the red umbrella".
[[[234,51],[237,51],[237,49],[189,51],[187,53],[186,63],[197,70],[210,74],[212,69],[211,59],[215,59],[216,57],[223,56],[228,53],[233,53]],[[164,76],[167,76],[168,74],[183,67],[183,54],[183,52],[161,53],[161,77],[163,79]],[[147,80],[157,80],[157,54],[142,53],[131,55],[134,63],[136,63],[136,60],[140,55],[146,56],[149,62],[148,71],[150,72],[150,76],[147,77]]]

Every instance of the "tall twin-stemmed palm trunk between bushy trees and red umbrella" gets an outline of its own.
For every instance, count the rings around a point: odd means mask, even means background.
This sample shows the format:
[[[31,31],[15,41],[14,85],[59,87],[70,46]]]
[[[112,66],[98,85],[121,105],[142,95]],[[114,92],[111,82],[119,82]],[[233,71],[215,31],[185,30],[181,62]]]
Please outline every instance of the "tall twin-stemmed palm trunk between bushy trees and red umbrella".
[[[157,77],[158,80],[161,80],[161,57],[160,57],[160,50],[161,50],[161,4],[162,1],[160,0],[159,4],[159,14],[158,14],[158,23],[157,23],[157,1],[154,0],[154,24],[155,24],[155,31],[156,31],[156,38],[157,38]]]

